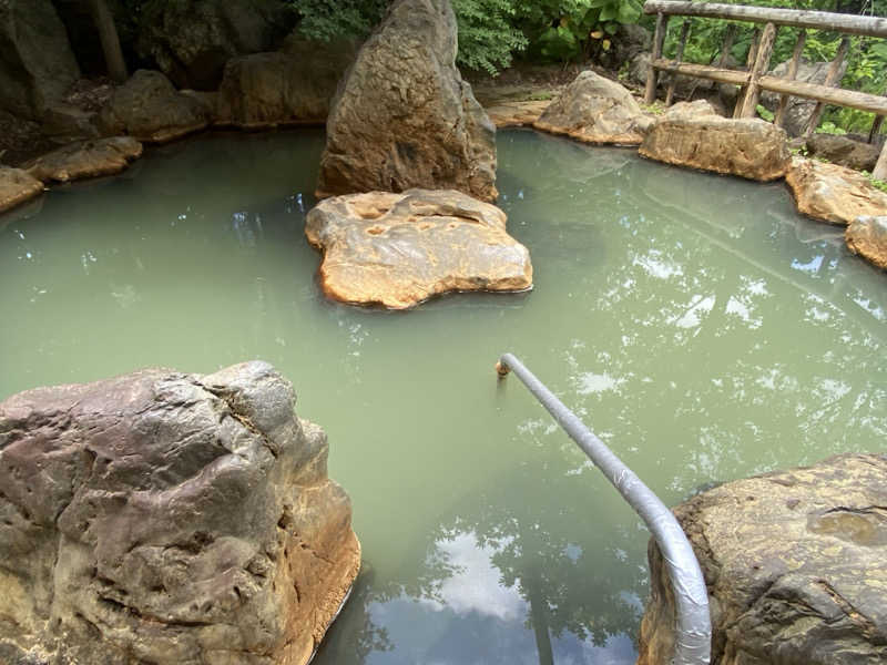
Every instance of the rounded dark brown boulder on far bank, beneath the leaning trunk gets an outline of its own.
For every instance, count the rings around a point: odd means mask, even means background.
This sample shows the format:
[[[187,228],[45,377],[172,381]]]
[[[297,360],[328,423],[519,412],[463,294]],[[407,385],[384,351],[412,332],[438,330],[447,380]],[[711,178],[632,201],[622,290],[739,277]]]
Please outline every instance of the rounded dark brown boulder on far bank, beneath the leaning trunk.
[[[139,70],[114,90],[100,117],[105,134],[164,143],[205,129],[211,113],[200,100],[177,92],[161,72]]]

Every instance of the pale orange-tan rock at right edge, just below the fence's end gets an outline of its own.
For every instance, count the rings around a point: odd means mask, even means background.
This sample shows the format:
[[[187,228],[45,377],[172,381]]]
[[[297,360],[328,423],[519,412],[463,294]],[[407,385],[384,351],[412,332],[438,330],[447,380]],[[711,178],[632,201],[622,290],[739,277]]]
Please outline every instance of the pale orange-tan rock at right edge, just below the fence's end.
[[[887,214],[887,194],[846,166],[795,157],[785,176],[799,213],[820,222],[849,224]]]

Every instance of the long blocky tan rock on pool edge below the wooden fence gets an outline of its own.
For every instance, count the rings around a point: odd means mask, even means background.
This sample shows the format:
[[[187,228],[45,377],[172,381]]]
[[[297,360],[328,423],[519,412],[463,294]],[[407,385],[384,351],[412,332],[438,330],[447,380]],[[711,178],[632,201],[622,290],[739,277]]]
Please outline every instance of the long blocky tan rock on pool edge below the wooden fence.
[[[640,153],[659,162],[764,182],[783,177],[791,162],[779,127],[762,120],[707,114],[666,114],[650,129]]]

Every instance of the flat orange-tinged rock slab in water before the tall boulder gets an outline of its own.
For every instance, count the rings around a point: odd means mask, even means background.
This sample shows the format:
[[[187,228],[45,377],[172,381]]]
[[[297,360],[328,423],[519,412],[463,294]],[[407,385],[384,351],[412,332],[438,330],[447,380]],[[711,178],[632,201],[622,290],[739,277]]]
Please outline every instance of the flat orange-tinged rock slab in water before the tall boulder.
[[[324,253],[324,290],[344,303],[405,309],[447,291],[532,288],[530,253],[506,214],[455,190],[329,198],[305,235]]]

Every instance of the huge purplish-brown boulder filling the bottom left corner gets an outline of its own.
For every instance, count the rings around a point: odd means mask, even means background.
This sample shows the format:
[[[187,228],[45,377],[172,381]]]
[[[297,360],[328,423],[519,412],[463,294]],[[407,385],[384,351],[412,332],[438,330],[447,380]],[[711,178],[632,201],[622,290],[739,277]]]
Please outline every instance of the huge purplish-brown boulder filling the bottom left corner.
[[[0,403],[0,661],[306,663],[359,544],[294,399],[248,362]]]

